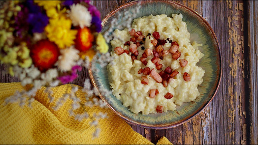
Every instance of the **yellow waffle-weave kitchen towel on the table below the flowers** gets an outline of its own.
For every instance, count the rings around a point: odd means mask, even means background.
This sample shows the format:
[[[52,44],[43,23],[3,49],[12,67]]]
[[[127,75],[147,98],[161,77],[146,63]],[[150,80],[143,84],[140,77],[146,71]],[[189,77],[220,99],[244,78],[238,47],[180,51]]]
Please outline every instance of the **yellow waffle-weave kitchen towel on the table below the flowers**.
[[[81,87],[79,87],[81,88]],[[58,111],[52,108],[63,94],[71,90],[71,85],[53,87],[55,101],[49,103],[45,87],[37,91],[32,108],[20,107],[19,103],[5,105],[4,100],[16,90],[28,89],[20,83],[0,83],[0,144],[152,144],[109,108],[86,107],[90,116],[107,113],[108,118],[98,123],[100,134],[93,139],[95,127],[90,119],[76,121],[68,115],[71,100],[67,100]],[[76,95],[83,100],[85,93],[79,89]],[[82,113],[78,109],[77,113]],[[162,138],[158,144],[171,144]]]

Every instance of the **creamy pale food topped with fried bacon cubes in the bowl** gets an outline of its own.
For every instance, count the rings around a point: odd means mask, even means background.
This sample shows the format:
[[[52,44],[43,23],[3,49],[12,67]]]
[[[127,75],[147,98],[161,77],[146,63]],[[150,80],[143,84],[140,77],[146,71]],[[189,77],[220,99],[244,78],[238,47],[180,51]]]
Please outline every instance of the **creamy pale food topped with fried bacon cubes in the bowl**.
[[[114,31],[109,80],[112,93],[135,114],[176,110],[200,95],[204,54],[191,44],[182,14],[134,19],[132,29]]]

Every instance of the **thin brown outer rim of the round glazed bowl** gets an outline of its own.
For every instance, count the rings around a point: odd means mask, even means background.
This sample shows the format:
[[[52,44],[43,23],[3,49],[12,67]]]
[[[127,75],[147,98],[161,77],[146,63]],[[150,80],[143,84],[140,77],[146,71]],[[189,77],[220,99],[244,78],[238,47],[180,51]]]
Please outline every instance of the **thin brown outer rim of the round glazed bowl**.
[[[118,8],[112,10],[111,12],[109,12],[103,19],[102,19],[102,23],[101,25],[103,24],[104,21],[106,21],[110,16],[112,16],[113,13],[117,12],[118,10],[124,8],[124,7],[127,7],[127,6],[130,6],[132,4],[135,4],[135,3],[138,3],[140,0],[134,0],[134,1],[131,1],[131,2],[128,2],[128,3],[125,3],[121,6],[119,6]],[[212,97],[211,99],[206,102],[202,108],[196,110],[191,116],[187,117],[187,118],[184,118],[182,121],[179,121],[179,122],[176,122],[176,123],[166,123],[166,124],[159,124],[157,126],[155,125],[150,125],[150,124],[146,124],[146,123],[139,123],[139,122],[136,122],[136,121],[133,121],[133,120],[130,120],[129,118],[127,118],[126,116],[123,116],[121,113],[117,112],[114,108],[112,108],[106,101],[105,97],[102,96],[100,93],[99,93],[99,97],[109,106],[109,108],[111,108],[118,116],[120,116],[121,118],[123,118],[126,122],[128,122],[129,124],[132,124],[132,125],[137,125],[137,126],[140,126],[140,127],[145,127],[145,128],[150,128],[150,129],[168,129],[168,128],[173,128],[173,127],[176,127],[176,126],[179,126],[183,123],[186,123],[187,121],[189,121],[190,119],[192,119],[194,116],[197,116],[200,112],[202,112],[209,104],[210,102],[213,100],[213,98],[215,97],[218,89],[219,89],[219,86],[220,86],[220,83],[221,83],[221,77],[222,77],[222,58],[221,58],[221,51],[220,51],[220,46],[219,46],[219,42],[217,40],[217,37],[215,35],[215,32],[213,31],[213,29],[211,28],[211,26],[209,25],[209,23],[200,15],[198,14],[196,11],[194,11],[193,9],[181,4],[181,3],[178,3],[178,2],[175,2],[175,1],[171,1],[171,0],[152,0],[152,1],[159,1],[159,2],[168,2],[168,3],[174,3],[178,6],[182,6],[184,8],[186,8],[187,10],[193,12],[197,17],[199,17],[205,24],[206,26],[209,28],[209,30],[212,32],[212,36],[215,38],[215,42],[216,42],[216,45],[217,45],[217,48],[218,48],[218,52],[219,52],[219,59],[220,59],[220,72],[219,72],[219,80],[217,82],[217,85],[216,85],[216,89],[214,91],[214,93],[212,94]],[[144,2],[144,3],[148,3],[148,2],[152,2],[152,1],[145,1],[145,0],[142,0],[141,2]],[[90,63],[90,66],[92,64]],[[90,76],[90,79],[92,81],[92,84],[93,86],[98,90],[99,92],[99,88],[97,87],[97,84],[94,80],[94,76],[93,76],[93,72],[91,70],[91,67],[89,67],[89,76]]]

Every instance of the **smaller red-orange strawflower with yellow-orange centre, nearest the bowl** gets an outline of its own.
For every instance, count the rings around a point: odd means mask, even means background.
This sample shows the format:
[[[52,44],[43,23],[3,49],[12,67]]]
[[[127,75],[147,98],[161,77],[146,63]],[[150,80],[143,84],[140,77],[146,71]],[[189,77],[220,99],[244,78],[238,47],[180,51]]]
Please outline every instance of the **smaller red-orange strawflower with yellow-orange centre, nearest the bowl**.
[[[79,29],[75,39],[75,48],[80,52],[87,51],[92,47],[94,35],[88,28]]]

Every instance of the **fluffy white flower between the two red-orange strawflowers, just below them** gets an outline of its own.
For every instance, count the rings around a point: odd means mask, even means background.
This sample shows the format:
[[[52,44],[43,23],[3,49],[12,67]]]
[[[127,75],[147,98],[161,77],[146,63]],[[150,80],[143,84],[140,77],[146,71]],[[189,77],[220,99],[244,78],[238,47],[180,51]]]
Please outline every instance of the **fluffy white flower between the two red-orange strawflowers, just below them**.
[[[61,71],[71,70],[72,66],[76,64],[76,60],[80,58],[78,55],[79,51],[71,46],[69,48],[62,49],[60,52],[61,56],[58,57],[56,65]]]

